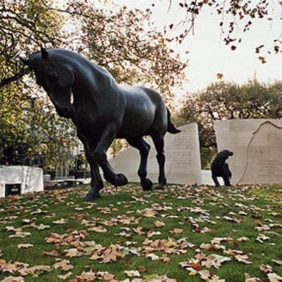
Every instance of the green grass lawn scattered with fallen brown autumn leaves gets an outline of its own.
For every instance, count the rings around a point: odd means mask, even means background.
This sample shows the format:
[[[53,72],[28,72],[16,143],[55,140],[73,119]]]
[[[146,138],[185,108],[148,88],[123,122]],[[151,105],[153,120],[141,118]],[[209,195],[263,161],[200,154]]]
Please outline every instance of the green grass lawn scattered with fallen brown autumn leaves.
[[[0,281],[282,281],[282,186],[87,189],[0,200]]]

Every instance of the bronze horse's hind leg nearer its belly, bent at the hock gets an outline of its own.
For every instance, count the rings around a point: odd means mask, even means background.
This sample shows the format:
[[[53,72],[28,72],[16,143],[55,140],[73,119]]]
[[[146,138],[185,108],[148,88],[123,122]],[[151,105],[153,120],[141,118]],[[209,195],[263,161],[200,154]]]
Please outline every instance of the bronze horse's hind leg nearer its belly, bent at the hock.
[[[152,181],[147,178],[147,159],[149,155],[150,145],[142,138],[136,137],[127,139],[130,146],[135,147],[140,152],[140,166],[138,169],[138,176],[143,190],[152,190]]]

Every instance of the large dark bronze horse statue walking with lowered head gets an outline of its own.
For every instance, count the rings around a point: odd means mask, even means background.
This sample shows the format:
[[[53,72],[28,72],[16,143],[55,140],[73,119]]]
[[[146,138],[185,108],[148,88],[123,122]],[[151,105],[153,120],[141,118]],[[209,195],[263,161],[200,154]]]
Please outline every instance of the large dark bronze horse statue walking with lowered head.
[[[120,186],[127,178],[116,173],[106,158],[106,151],[115,138],[125,138],[140,152],[140,177],[143,190],[152,189],[147,178],[149,144],[143,136],[152,137],[157,150],[159,185],[164,189],[164,135],[178,133],[161,95],[145,87],[118,85],[104,68],[65,49],[44,49],[21,59],[35,72],[37,84],[47,92],[59,116],[71,118],[78,138],[85,147],[91,168],[91,188],[85,200],[99,197],[103,181]],[[73,95],[73,97],[71,97]]]

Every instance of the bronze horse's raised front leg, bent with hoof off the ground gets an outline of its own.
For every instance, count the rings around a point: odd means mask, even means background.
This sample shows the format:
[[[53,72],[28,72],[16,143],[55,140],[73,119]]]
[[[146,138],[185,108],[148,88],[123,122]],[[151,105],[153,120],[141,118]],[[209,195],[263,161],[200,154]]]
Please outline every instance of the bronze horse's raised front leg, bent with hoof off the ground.
[[[115,137],[116,125],[109,124],[99,138],[99,142],[97,147],[94,149],[94,152],[92,152],[92,161],[95,161],[97,164],[99,164],[99,166],[101,166],[104,173],[104,178],[109,183],[116,186],[121,186],[128,183],[127,178],[122,173],[116,173],[106,158],[106,151],[109,149]]]

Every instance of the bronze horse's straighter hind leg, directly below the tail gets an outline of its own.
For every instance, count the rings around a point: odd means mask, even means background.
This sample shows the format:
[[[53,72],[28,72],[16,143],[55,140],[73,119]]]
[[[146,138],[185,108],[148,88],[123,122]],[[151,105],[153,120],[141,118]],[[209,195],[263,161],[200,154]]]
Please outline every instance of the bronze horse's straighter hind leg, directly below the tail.
[[[151,137],[157,151],[156,157],[159,164],[159,185],[157,185],[157,189],[164,189],[166,186],[166,174],[164,172],[164,163],[166,161],[166,157],[164,156],[164,135],[153,133]]]

